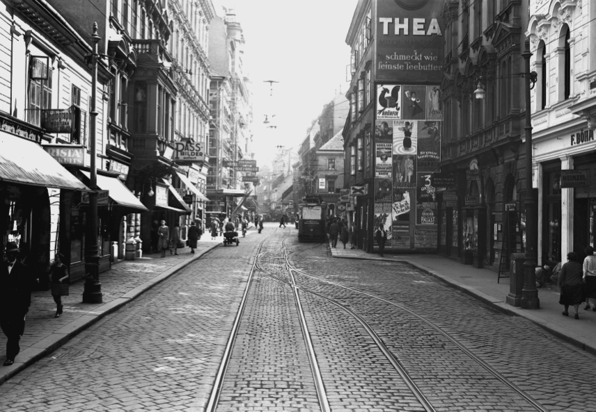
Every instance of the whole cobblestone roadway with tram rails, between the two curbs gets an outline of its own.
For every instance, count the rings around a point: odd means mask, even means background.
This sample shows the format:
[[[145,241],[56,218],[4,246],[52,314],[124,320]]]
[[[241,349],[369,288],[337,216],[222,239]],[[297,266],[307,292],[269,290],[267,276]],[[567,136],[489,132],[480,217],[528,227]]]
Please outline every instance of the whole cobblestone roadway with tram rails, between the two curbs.
[[[8,379],[0,410],[595,410],[592,354],[407,263],[332,258],[276,226],[217,245]]]

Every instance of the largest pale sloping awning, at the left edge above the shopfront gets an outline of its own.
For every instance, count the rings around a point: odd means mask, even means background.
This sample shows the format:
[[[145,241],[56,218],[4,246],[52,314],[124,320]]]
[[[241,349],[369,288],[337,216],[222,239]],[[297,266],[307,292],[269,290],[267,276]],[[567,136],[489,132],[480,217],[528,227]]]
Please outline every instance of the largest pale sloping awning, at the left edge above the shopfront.
[[[91,192],[36,142],[0,131],[0,181]]]

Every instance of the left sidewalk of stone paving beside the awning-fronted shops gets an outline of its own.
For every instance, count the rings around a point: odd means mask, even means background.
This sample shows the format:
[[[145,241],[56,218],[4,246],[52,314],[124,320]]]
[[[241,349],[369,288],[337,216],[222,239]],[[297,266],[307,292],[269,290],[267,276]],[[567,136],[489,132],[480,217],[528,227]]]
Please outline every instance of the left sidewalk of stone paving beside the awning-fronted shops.
[[[116,311],[121,306],[139,297],[146,290],[167,279],[171,275],[201,258],[203,254],[217,247],[221,240],[210,240],[202,236],[195,253],[190,248],[179,249],[178,256],[160,258],[159,254],[150,254],[136,261],[120,261],[112,269],[100,273],[103,303],[82,303],[84,281],[70,285],[70,296],[62,297],[64,313],[54,318],[56,304],[49,290],[33,292],[31,307],[27,313],[25,333],[19,345],[21,352],[11,366],[0,365],[0,384],[13,377],[27,366],[43,356],[52,353],[64,345],[73,336],[100,320],[105,315]],[[0,333],[0,361],[6,356],[6,336]]]

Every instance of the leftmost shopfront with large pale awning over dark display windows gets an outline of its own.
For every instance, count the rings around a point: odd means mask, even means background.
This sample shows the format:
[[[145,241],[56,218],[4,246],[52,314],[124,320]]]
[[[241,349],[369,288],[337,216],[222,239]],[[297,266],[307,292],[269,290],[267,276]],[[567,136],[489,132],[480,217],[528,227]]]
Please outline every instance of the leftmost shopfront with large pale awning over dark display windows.
[[[2,123],[14,133],[0,131],[2,244],[16,242],[26,264],[42,274],[64,242],[58,231],[61,196],[91,190],[42,149],[39,129],[17,120]],[[45,277],[40,286],[47,286]]]

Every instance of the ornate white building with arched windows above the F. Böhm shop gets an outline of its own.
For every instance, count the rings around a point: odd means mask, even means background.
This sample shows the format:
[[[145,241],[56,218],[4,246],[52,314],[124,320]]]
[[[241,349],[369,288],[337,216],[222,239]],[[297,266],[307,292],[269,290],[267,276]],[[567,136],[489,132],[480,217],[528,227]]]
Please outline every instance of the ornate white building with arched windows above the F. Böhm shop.
[[[531,1],[533,167],[538,263],[583,256],[596,213],[596,5]]]

